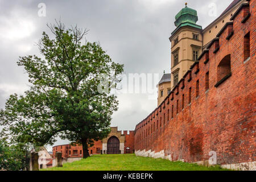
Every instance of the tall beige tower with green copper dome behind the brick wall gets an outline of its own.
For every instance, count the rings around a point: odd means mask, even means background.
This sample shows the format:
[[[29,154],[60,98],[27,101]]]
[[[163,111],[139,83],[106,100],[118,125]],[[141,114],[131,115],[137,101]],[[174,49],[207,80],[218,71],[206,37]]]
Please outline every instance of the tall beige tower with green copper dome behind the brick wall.
[[[171,88],[188,71],[202,52],[202,27],[196,24],[197,11],[187,7],[175,16],[176,29],[171,33]]]

